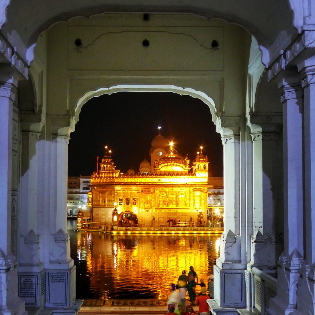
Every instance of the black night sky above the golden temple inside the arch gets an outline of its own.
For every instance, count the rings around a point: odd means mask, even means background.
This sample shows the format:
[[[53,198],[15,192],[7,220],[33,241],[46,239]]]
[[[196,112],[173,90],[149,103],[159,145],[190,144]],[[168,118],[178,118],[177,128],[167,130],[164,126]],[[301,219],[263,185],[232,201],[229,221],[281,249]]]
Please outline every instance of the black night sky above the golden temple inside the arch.
[[[68,175],[92,175],[104,146],[112,150],[116,169],[139,169],[152,139],[161,134],[192,161],[199,146],[208,155],[210,175],[223,176],[223,146],[209,107],[201,100],[171,92],[119,92],[94,97],[83,105],[70,135]]]

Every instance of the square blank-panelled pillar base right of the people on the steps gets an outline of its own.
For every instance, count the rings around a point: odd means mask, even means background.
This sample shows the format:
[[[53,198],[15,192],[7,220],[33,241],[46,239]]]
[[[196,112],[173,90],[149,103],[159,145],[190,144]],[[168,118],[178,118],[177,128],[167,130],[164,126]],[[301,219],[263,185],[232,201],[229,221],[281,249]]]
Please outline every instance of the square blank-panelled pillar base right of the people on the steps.
[[[245,307],[244,270],[224,270],[214,266],[214,300],[221,307]]]

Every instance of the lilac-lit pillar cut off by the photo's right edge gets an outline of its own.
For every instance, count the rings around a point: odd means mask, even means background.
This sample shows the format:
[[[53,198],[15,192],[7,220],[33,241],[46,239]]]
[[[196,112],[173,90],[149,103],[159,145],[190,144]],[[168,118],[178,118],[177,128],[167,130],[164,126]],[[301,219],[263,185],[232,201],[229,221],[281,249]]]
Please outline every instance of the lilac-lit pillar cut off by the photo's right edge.
[[[296,309],[301,314],[315,313],[315,57],[301,68],[304,94],[304,261],[298,278]],[[302,234],[303,235],[303,234]]]

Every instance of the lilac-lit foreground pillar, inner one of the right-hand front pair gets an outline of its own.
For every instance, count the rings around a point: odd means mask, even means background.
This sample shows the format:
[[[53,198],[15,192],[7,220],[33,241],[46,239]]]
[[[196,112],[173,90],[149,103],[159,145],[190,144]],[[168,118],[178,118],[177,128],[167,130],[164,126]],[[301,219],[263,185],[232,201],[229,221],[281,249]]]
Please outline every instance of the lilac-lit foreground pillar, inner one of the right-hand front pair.
[[[296,312],[296,290],[304,255],[302,90],[298,78],[284,72],[279,82],[283,103],[284,252],[279,258],[277,296],[269,315]],[[298,314],[298,313],[296,313]]]

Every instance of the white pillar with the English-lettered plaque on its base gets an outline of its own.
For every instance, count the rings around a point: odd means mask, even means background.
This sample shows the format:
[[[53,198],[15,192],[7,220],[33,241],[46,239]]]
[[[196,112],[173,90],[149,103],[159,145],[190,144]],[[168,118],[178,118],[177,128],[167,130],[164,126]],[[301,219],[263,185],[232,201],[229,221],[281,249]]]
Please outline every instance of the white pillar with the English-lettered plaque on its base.
[[[45,271],[40,261],[40,232],[38,222],[39,167],[42,152],[39,136],[42,123],[30,121],[30,115],[21,114],[23,123],[21,146],[21,207],[20,242],[18,255],[19,292],[28,307],[43,308],[45,305]],[[35,118],[35,117],[32,117]],[[37,117],[36,117],[37,118]],[[43,209],[42,209],[43,210]],[[43,234],[41,237],[44,237]]]

